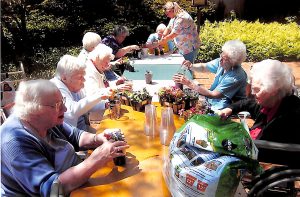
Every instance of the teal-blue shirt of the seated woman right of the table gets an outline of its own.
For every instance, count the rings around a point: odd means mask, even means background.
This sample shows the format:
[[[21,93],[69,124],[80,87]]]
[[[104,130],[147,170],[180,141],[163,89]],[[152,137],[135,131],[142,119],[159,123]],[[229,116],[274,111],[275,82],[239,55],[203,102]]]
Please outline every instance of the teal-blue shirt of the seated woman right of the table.
[[[212,105],[212,110],[220,110],[229,106],[232,99],[246,98],[247,74],[241,65],[237,65],[224,73],[224,69],[220,65],[220,58],[217,58],[206,63],[206,68],[216,74],[210,90],[217,90],[224,95],[223,98],[208,99]]]

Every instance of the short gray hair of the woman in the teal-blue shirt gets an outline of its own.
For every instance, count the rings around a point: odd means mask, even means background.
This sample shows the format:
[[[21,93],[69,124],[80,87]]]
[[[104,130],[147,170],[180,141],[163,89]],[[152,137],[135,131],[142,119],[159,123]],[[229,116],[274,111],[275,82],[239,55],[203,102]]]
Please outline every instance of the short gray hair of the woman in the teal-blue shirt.
[[[239,65],[246,60],[246,45],[240,40],[229,40],[225,42],[222,46],[222,51],[228,55],[234,65]]]

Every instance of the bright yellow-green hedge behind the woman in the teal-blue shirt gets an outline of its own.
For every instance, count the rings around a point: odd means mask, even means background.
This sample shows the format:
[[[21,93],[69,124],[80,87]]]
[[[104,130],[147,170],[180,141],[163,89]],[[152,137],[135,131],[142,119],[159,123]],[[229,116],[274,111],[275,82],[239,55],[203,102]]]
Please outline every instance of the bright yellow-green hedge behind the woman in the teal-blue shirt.
[[[219,56],[222,45],[233,39],[247,46],[247,61],[278,59],[281,61],[300,59],[300,28],[297,23],[288,24],[225,21],[210,23],[200,29],[202,41],[198,60],[205,62]]]

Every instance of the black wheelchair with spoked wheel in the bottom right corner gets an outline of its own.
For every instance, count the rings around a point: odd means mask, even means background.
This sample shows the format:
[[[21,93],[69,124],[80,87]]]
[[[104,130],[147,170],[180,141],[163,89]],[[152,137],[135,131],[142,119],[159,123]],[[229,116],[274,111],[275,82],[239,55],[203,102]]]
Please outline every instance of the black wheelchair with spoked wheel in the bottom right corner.
[[[246,113],[244,112],[243,115]],[[247,115],[247,114],[246,114]],[[241,122],[245,121],[239,116]],[[243,123],[242,123],[243,124]],[[299,157],[300,144],[287,144],[266,140],[254,140],[258,151],[266,151],[274,158],[283,158],[287,154],[290,157]],[[294,160],[293,160],[294,161]],[[299,196],[300,195],[300,161],[259,159],[260,165],[271,166],[262,174],[242,179],[248,196]],[[267,162],[267,163],[265,163]]]

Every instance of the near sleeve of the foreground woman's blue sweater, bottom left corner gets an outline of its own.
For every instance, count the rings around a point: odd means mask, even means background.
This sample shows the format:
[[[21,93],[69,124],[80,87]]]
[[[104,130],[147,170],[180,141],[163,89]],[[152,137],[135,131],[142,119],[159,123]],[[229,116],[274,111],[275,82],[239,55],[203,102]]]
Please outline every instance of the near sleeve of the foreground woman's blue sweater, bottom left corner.
[[[34,147],[34,148],[33,148]],[[28,196],[49,196],[59,174],[38,142],[20,136],[3,144],[2,162],[9,166],[13,178]]]

